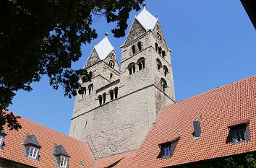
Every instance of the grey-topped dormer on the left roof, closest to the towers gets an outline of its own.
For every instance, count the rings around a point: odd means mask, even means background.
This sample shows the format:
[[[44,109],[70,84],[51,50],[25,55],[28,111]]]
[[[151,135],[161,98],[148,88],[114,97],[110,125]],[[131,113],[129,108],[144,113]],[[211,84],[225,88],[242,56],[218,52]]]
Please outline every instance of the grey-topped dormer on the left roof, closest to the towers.
[[[69,154],[62,145],[54,144],[54,159],[57,167],[69,167]]]

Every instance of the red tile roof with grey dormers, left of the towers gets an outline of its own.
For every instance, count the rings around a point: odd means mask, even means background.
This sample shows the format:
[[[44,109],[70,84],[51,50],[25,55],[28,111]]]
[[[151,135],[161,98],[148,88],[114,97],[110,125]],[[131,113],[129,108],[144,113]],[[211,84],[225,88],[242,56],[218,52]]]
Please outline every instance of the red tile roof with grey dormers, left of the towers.
[[[57,145],[63,145],[69,154],[69,167],[82,168],[80,161],[88,168],[93,164],[94,156],[90,151],[88,143],[78,141],[25,118],[20,118],[18,121],[22,125],[19,131],[10,131],[7,126],[4,126],[7,136],[4,138],[4,151],[0,150],[1,158],[32,167],[56,167],[54,161],[54,143],[56,143]],[[27,133],[30,136],[35,135],[40,146],[42,146],[39,152],[40,161],[35,161],[24,156],[22,143]]]

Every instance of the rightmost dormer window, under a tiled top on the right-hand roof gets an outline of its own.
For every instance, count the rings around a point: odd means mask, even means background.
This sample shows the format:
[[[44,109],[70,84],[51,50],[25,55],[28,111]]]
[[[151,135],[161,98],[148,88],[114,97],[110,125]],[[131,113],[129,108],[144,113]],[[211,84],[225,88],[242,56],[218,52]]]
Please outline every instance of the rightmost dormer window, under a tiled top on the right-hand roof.
[[[242,143],[249,141],[249,119],[240,120],[229,125],[229,133],[232,143]]]

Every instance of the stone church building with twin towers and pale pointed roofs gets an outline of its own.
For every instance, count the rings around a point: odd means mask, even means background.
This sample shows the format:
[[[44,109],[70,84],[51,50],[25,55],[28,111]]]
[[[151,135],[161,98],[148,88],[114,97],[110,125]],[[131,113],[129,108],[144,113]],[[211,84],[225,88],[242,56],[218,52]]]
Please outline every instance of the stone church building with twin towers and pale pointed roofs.
[[[80,81],[69,136],[88,142],[97,158],[137,149],[163,107],[175,102],[170,51],[145,7],[121,45],[120,67],[104,37],[85,63],[92,79]]]

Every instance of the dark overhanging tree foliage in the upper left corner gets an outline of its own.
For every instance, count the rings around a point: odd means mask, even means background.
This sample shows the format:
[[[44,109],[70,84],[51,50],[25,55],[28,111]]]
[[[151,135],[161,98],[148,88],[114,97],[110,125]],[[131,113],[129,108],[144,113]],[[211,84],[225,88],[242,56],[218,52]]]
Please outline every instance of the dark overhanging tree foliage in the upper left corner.
[[[81,44],[97,33],[90,27],[94,16],[116,22],[115,37],[123,37],[129,12],[139,10],[142,0],[0,0],[0,109],[12,104],[19,89],[47,75],[54,89],[74,96],[78,80],[90,80],[84,70],[71,68],[81,56]],[[15,116],[0,112],[0,128],[9,123],[18,129]],[[12,118],[9,120],[9,118]]]

